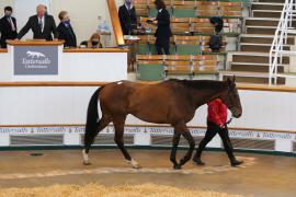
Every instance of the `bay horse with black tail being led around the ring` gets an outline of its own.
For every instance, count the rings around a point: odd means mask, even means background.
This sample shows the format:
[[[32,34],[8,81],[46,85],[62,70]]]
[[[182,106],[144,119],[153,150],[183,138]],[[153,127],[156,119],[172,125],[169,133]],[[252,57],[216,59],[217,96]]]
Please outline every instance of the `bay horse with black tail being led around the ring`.
[[[173,169],[181,169],[191,159],[195,147],[186,123],[194,117],[196,108],[215,99],[224,101],[232,117],[241,116],[242,108],[235,77],[226,81],[172,79],[157,84],[119,81],[103,85],[93,93],[89,103],[82,151],[83,163],[90,164],[88,154],[94,138],[113,121],[115,143],[133,167],[140,167],[127,152],[123,140],[126,116],[132,114],[144,121],[169,124],[174,128],[170,161]],[[98,113],[99,101],[101,119]],[[178,163],[175,154],[181,135],[187,140],[190,148]]]

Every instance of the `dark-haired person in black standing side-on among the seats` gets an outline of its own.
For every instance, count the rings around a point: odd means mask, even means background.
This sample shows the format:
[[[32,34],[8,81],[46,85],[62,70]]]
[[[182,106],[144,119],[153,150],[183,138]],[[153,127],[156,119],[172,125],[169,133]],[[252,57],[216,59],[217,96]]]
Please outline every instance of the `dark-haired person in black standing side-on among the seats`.
[[[162,55],[164,50],[166,55],[170,54],[170,37],[172,36],[170,27],[170,13],[166,9],[163,0],[155,1],[156,9],[158,10],[157,18],[152,21],[152,24],[157,25],[156,31],[156,48],[158,55]]]

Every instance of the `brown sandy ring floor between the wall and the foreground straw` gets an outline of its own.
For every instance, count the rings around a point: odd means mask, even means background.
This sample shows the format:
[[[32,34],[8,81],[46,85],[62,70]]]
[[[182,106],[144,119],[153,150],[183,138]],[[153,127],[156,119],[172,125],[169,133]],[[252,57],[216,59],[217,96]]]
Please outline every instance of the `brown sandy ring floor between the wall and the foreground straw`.
[[[42,157],[31,157],[42,152]],[[117,150],[93,150],[92,165],[80,150],[0,152],[0,187],[36,187],[98,183],[104,186],[156,184],[252,196],[296,196],[296,158],[241,154],[241,167],[230,167],[224,152],[205,152],[207,165],[189,162],[173,171],[168,150],[130,150],[141,170],[133,170]],[[179,157],[184,154],[179,152]]]

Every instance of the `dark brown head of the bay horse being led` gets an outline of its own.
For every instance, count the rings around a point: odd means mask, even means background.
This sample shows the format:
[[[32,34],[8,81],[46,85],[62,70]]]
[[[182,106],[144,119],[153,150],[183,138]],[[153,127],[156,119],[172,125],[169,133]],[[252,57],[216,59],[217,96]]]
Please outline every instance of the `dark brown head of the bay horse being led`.
[[[229,111],[231,111],[232,116],[239,118],[242,114],[242,108],[240,104],[240,97],[238,94],[238,90],[236,86],[236,78],[234,76],[232,79],[227,79],[227,91],[224,91],[220,95],[220,99],[227,105]]]

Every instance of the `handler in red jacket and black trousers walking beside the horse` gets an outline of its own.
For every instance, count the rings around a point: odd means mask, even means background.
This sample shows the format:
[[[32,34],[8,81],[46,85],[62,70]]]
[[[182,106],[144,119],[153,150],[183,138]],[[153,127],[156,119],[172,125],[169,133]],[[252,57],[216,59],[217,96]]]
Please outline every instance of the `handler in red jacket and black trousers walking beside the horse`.
[[[220,99],[214,100],[209,102],[207,108],[207,130],[204,139],[201,141],[196,154],[193,157],[193,162],[197,165],[204,165],[202,162],[201,155],[206,144],[216,136],[218,132],[223,143],[225,151],[228,154],[231,166],[239,165],[243,163],[242,161],[238,161],[234,154],[234,148],[229,138],[228,128],[227,128],[227,106],[223,103]]]

